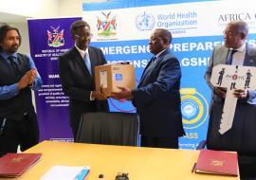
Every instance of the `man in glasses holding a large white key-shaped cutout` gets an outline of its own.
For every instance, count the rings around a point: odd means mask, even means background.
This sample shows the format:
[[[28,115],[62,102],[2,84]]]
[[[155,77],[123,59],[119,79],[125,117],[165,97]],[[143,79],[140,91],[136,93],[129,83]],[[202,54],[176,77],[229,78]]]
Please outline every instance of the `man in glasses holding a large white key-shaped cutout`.
[[[238,98],[232,128],[219,133],[222,110],[227,89],[210,83],[212,67],[217,64],[256,66],[256,49],[247,45],[247,23],[229,22],[224,30],[224,45],[217,45],[212,52],[205,79],[212,90],[210,123],[207,146],[212,150],[235,151],[239,156],[241,177],[256,177],[256,91],[235,89]]]

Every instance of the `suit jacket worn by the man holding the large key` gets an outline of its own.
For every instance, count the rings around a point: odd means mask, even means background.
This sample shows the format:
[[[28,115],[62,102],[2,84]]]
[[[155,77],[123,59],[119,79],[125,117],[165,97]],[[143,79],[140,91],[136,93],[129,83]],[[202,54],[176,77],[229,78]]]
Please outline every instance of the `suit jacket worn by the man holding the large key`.
[[[205,79],[212,90],[214,89],[213,85],[210,83],[212,67],[220,63],[226,64],[229,53],[229,48],[223,45],[217,45],[213,50],[209,67],[205,74]],[[247,45],[244,65],[256,66],[256,49],[249,45]],[[249,91],[247,99],[238,99],[232,128],[224,135],[220,135],[218,131],[224,101],[225,99],[219,98],[212,93],[207,137],[208,148],[223,151],[236,151],[238,153],[255,153],[256,91]]]

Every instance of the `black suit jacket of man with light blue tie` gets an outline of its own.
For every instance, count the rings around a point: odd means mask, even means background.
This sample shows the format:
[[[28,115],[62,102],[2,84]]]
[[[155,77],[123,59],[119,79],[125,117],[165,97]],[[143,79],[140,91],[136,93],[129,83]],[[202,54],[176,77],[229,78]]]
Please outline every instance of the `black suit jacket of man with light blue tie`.
[[[95,90],[94,67],[106,63],[100,48],[88,47],[92,76],[76,47],[59,56],[59,73],[64,94],[69,97],[70,125],[79,126],[83,113],[108,111],[106,100],[90,100],[91,91]]]

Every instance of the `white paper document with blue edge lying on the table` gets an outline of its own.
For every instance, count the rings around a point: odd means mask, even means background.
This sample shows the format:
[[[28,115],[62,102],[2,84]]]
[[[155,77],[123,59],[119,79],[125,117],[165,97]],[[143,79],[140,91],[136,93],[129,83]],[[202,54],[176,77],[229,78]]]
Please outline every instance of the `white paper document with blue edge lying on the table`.
[[[90,167],[53,166],[40,180],[83,180]]]

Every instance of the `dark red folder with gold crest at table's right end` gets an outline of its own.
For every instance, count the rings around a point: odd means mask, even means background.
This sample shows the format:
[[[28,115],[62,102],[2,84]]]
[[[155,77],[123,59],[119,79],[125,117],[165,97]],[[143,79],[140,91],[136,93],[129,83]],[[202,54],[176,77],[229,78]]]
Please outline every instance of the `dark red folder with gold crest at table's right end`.
[[[201,150],[194,171],[237,176],[237,153]]]

